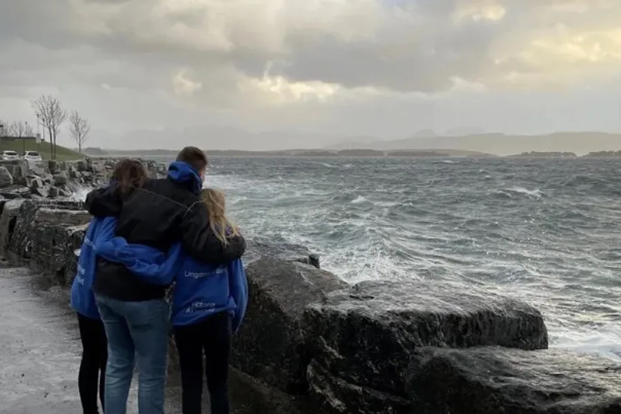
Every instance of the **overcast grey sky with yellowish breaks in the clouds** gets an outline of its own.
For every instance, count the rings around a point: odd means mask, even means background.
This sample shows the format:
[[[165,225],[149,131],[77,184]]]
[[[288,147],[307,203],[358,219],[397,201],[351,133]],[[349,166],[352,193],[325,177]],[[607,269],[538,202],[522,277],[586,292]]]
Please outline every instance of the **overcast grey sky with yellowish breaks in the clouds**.
[[[0,10],[0,119],[34,123],[30,101],[52,94],[90,119],[92,145],[204,125],[386,138],[621,131],[620,0],[0,0]],[[164,139],[152,146],[179,146]]]

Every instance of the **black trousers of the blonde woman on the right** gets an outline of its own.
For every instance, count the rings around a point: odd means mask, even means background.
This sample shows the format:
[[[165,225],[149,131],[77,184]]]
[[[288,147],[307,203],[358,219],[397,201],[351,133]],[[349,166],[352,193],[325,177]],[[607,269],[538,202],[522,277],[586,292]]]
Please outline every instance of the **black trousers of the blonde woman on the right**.
[[[230,315],[218,313],[198,324],[175,327],[174,335],[181,368],[183,414],[201,414],[203,352],[211,414],[230,414],[227,384]]]

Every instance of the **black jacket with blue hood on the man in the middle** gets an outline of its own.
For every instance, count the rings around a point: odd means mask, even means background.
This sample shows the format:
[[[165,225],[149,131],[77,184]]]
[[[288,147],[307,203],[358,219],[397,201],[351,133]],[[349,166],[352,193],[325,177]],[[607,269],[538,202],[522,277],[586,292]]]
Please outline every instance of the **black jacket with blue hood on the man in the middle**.
[[[95,217],[117,217],[116,235],[128,243],[144,244],[167,252],[181,241],[186,253],[195,259],[225,264],[242,257],[244,237],[233,237],[225,247],[209,226],[208,212],[199,199],[198,176],[188,179],[183,166],[172,170],[166,179],[149,179],[142,188],[121,198],[108,188],[92,190],[86,208]],[[189,167],[189,166],[188,166]],[[98,259],[93,283],[95,293],[124,302],[161,299],[168,286],[145,282],[121,264]]]

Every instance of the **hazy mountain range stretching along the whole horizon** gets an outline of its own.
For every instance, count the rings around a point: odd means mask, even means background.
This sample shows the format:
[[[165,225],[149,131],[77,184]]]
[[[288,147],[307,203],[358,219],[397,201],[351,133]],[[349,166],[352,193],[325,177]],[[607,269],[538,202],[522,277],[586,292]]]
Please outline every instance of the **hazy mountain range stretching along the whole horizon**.
[[[144,153],[154,143],[170,143],[174,152],[182,145],[195,145],[209,152],[228,151],[293,151],[299,148],[322,150],[428,150],[515,155],[522,152],[575,152],[584,155],[594,151],[621,150],[621,134],[607,132],[554,132],[546,135],[506,135],[463,126],[437,134],[420,130],[409,137],[388,140],[373,135],[339,137],[320,132],[287,132],[282,130],[250,132],[231,126],[192,126],[164,130],[136,130],[121,135],[94,132],[97,141],[106,142],[107,153]],[[336,144],[333,144],[336,143]]]

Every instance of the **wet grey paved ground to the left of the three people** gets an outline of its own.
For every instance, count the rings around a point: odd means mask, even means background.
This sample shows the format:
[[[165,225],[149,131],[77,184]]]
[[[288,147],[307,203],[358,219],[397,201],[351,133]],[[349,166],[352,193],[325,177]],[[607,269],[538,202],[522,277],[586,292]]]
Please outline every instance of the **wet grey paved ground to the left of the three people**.
[[[0,413],[81,414],[77,374],[81,345],[68,293],[45,288],[25,268],[0,266]],[[169,381],[167,414],[180,413]],[[136,389],[128,413],[137,413]]]

